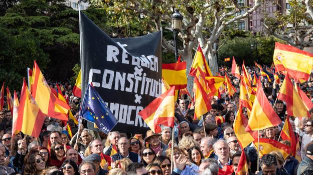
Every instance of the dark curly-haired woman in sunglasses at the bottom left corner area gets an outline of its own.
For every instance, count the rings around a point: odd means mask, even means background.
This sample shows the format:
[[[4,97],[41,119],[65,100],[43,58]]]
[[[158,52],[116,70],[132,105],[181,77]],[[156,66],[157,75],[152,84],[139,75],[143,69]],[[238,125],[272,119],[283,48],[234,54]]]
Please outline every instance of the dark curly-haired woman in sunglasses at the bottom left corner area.
[[[39,175],[45,168],[45,158],[35,152],[26,159],[24,174]]]

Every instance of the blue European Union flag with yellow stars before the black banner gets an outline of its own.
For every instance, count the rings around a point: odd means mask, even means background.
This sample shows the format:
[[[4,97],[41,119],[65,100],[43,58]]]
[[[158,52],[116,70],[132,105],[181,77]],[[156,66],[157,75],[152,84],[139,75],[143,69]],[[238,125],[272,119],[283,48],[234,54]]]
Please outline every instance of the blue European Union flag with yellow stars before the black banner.
[[[80,116],[97,125],[98,129],[108,134],[117,124],[117,120],[96,89],[88,84]]]

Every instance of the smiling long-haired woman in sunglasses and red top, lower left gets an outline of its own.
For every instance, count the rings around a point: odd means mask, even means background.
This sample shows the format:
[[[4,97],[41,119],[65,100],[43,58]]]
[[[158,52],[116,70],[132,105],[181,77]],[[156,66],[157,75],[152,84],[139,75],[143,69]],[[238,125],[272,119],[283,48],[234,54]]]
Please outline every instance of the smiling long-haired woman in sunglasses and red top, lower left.
[[[61,167],[63,161],[65,160],[65,151],[62,143],[55,141],[51,144],[51,160],[50,165],[51,166],[57,166],[58,168]]]

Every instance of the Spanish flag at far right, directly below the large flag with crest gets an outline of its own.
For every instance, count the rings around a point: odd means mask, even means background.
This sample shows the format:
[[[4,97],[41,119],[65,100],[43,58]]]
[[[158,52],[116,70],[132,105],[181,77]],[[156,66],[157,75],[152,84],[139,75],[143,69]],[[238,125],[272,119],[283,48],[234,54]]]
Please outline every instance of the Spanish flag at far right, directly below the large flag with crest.
[[[286,102],[288,115],[300,117],[310,116],[307,112],[305,104],[293,87],[288,75],[286,75],[285,79],[282,81],[277,99],[281,99]]]

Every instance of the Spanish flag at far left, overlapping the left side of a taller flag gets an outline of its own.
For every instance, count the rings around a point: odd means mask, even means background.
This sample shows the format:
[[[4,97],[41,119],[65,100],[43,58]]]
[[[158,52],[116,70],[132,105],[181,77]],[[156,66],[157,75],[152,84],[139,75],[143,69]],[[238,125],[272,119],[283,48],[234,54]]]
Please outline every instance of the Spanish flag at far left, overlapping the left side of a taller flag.
[[[46,115],[40,110],[38,104],[28,90],[25,78],[23,81],[16,130],[24,134],[39,137],[41,127]]]

